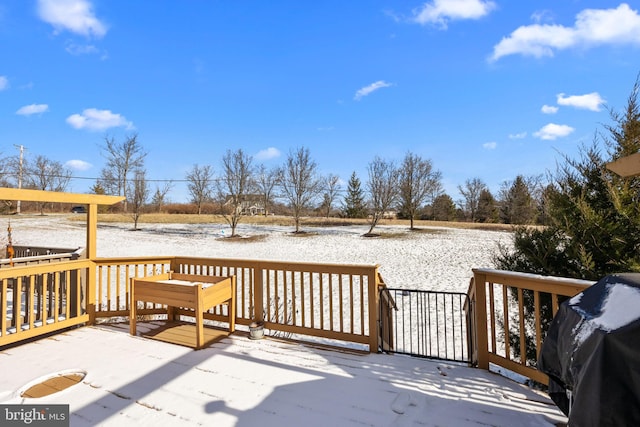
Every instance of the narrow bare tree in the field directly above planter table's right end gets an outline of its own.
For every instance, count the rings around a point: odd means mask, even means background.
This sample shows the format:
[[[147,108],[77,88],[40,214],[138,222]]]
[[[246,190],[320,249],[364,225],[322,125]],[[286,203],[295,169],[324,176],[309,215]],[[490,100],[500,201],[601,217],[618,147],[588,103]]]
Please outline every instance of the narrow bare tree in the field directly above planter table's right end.
[[[218,181],[218,194],[223,200],[222,216],[231,227],[231,237],[242,216],[243,203],[251,185],[252,158],[242,149],[227,150],[222,158],[222,177]]]

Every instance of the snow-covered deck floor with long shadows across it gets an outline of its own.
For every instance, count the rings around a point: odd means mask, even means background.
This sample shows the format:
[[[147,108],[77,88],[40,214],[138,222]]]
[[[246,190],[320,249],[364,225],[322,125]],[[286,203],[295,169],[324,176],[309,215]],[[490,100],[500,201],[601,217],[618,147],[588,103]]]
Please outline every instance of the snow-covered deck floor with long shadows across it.
[[[163,322],[141,322],[141,333]],[[98,325],[0,351],[0,403],[69,404],[71,426],[549,426],[543,394],[446,362],[336,351],[236,333],[209,347]],[[38,399],[20,391],[57,372],[76,384]]]

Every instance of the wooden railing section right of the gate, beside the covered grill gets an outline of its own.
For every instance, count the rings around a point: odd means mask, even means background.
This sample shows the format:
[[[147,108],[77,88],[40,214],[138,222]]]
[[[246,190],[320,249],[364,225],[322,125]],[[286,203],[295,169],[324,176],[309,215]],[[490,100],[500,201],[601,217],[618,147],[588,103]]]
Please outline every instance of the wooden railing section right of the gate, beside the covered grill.
[[[539,383],[536,370],[547,326],[558,305],[593,282],[510,271],[474,269],[467,315],[472,362],[504,367]]]

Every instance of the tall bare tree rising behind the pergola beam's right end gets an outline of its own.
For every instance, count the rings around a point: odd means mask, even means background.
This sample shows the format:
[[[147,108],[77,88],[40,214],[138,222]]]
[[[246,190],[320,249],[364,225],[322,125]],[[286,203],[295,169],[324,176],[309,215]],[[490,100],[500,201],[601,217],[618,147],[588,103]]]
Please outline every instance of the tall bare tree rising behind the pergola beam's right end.
[[[144,168],[147,153],[140,145],[137,134],[128,136],[122,143],[106,137],[102,151],[107,164],[100,174],[100,184],[109,194],[124,196],[124,211],[127,212],[129,176]]]

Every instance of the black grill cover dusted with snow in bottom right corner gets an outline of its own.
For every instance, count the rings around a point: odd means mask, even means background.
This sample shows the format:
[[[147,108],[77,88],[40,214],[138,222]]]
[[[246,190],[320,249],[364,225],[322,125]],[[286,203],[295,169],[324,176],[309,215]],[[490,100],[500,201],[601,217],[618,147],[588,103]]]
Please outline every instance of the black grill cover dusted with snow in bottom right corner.
[[[606,276],[561,304],[538,369],[571,427],[640,426],[640,274]]]

